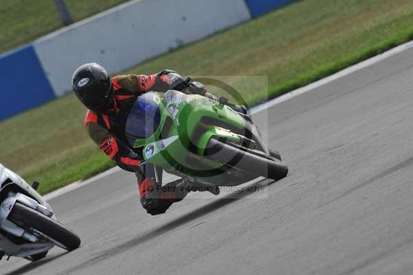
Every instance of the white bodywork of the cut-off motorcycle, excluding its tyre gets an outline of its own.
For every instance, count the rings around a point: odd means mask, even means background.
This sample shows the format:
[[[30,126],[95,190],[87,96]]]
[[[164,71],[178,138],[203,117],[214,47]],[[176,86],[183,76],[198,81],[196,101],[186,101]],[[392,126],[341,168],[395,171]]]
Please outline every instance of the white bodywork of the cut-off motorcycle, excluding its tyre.
[[[11,185],[17,185],[21,189],[21,192],[9,192],[8,187]],[[8,192],[8,194],[5,194]],[[6,198],[5,198],[6,197]],[[54,244],[39,240],[39,236],[35,236],[30,232],[26,232],[23,228],[15,225],[8,220],[14,204],[19,202],[26,205],[50,218],[56,219],[52,212],[52,208],[45,200],[36,192],[28,183],[26,183],[18,174],[8,170],[4,165],[0,163],[0,254],[3,252],[8,256],[28,257],[33,254],[39,254],[51,249]],[[3,234],[7,234],[24,238],[28,243],[17,245],[7,238]],[[40,241],[40,242],[39,242]],[[30,243],[29,243],[30,242]]]

